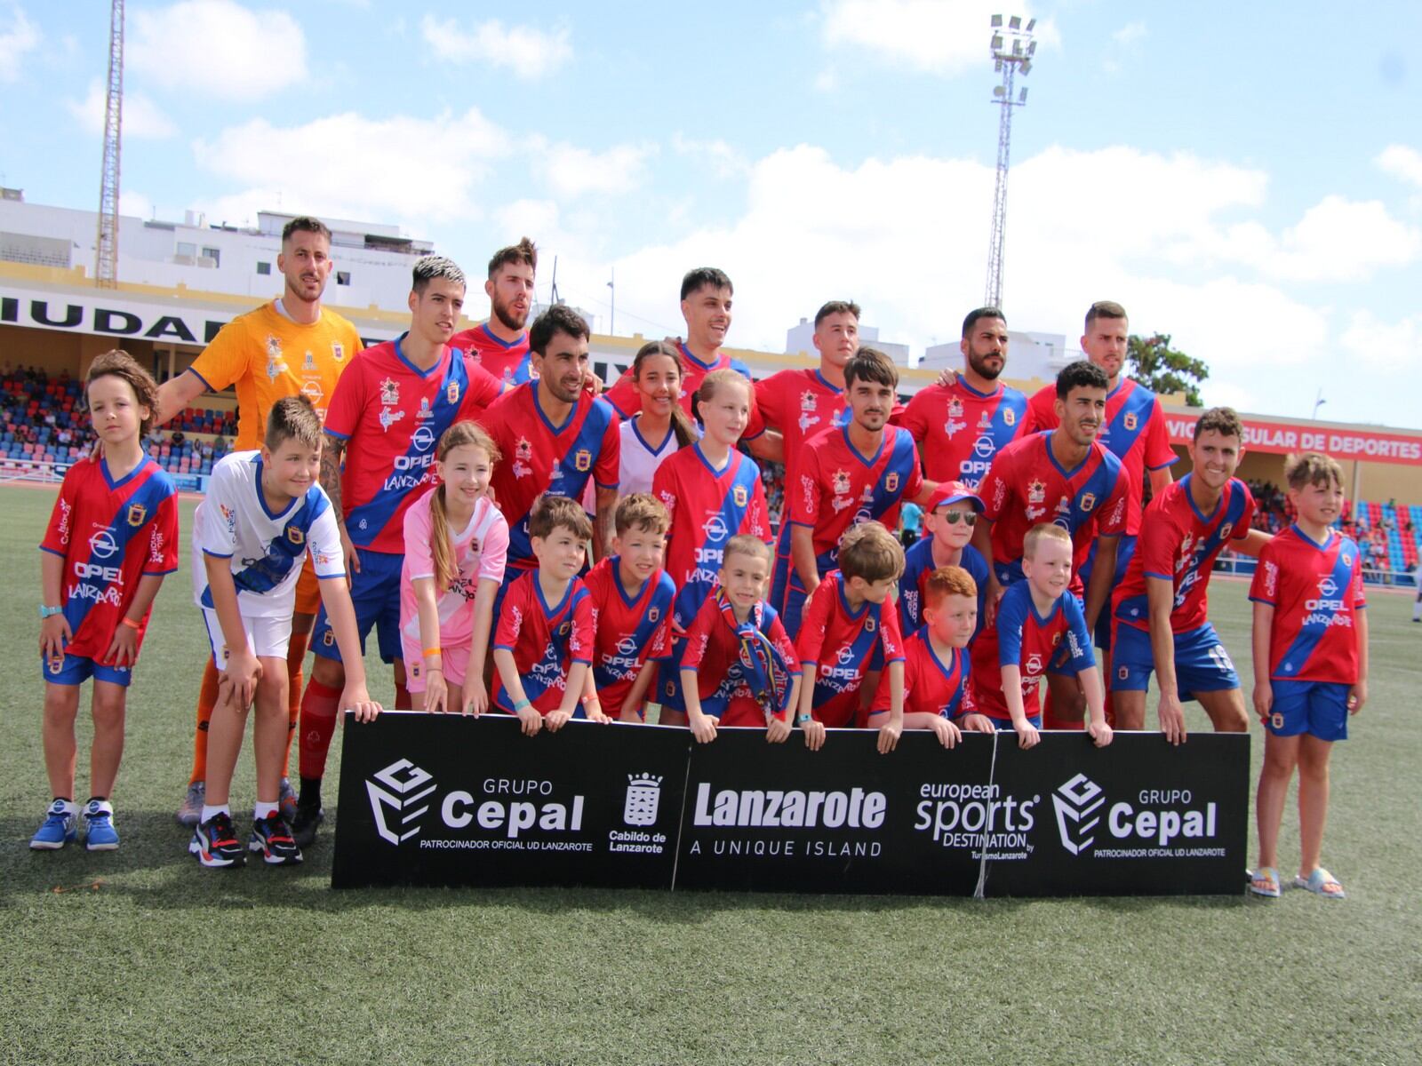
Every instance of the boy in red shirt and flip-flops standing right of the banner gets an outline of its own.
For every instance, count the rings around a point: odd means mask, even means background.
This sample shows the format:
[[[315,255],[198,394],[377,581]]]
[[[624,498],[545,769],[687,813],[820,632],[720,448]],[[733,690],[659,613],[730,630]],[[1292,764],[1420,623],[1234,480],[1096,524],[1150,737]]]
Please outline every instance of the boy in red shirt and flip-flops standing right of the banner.
[[[1328,756],[1368,702],[1368,615],[1358,546],[1330,526],[1342,513],[1342,469],[1308,452],[1284,465],[1298,517],[1258,556],[1254,601],[1254,711],[1267,729],[1258,775],[1257,895],[1277,897],[1278,827],[1298,768],[1295,888],[1330,900],[1342,884],[1320,864],[1328,817]]]

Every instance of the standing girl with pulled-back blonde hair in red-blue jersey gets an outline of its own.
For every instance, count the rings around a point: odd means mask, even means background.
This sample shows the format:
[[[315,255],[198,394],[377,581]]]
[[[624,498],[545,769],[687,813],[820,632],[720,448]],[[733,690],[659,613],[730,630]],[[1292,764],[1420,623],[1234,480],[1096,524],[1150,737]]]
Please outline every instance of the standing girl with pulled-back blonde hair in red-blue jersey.
[[[734,370],[707,374],[698,389],[702,435],[657,468],[653,495],[671,515],[667,573],[677,586],[671,664],[658,677],[661,725],[685,725],[675,664],[685,632],[715,588],[722,551],[737,534],[769,543],[769,509],[755,462],[735,449],[751,412],[751,382]]]

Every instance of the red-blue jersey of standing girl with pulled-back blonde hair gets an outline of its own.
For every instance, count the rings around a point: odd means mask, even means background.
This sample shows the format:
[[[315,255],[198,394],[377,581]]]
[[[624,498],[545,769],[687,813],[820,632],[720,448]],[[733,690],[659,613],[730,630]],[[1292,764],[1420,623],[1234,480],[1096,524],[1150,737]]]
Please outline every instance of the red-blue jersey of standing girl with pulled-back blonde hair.
[[[685,632],[720,581],[727,542],[738,533],[771,542],[759,468],[732,451],[717,470],[697,442],[657,468],[653,495],[671,515],[667,573],[677,583],[674,624]]]

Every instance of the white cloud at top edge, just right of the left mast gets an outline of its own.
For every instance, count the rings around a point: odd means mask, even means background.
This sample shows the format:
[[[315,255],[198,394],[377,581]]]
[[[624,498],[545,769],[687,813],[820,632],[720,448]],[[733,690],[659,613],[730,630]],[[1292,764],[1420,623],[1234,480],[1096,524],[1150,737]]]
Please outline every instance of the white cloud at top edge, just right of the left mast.
[[[128,64],[156,84],[259,99],[306,80],[306,36],[286,11],[233,0],[183,0],[134,11]]]

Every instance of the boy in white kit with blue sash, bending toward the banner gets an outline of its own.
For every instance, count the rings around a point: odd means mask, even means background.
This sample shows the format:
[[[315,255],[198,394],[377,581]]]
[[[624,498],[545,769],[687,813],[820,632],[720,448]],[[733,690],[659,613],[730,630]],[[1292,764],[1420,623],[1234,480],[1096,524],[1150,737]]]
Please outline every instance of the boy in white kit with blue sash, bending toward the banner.
[[[229,790],[256,701],[252,746],[257,797],[247,850],[270,866],[301,861],[292,827],[277,809],[286,756],[287,640],[303,557],[310,553],[321,603],[346,658],[340,706],[368,722],[380,704],[365,691],[356,608],[330,499],[317,483],[321,419],[306,397],[279,399],[267,412],[260,452],[232,452],[212,470],[193,515],[193,598],[202,608],[219,671],[218,705],[208,728],[208,792],[188,851],[205,867],[242,866]]]

